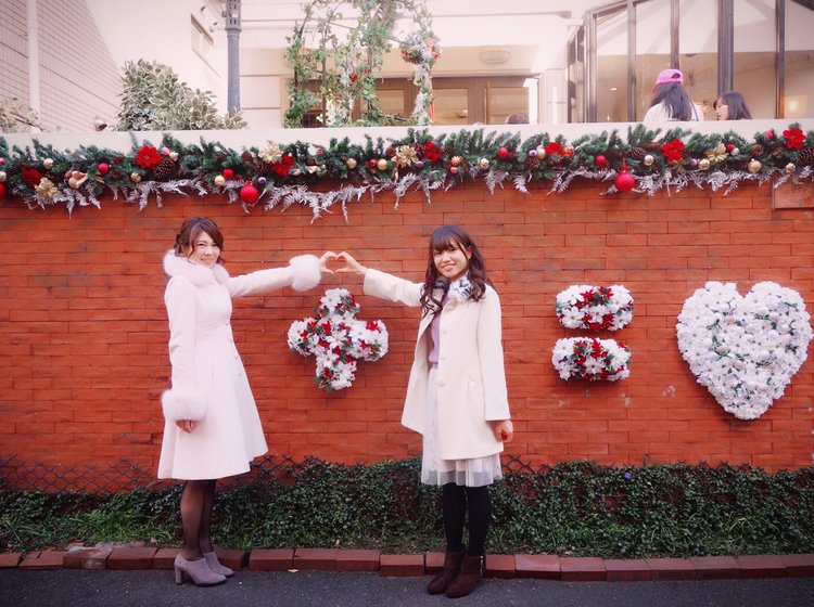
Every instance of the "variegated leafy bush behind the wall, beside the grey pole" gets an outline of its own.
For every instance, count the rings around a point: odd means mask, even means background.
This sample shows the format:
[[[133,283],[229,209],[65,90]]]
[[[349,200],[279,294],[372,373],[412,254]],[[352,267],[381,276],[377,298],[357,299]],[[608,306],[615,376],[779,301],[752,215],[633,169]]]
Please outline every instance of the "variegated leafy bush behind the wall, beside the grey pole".
[[[139,60],[127,62],[122,73],[119,131],[242,129],[240,112],[219,116],[213,94],[192,90],[171,67]]]

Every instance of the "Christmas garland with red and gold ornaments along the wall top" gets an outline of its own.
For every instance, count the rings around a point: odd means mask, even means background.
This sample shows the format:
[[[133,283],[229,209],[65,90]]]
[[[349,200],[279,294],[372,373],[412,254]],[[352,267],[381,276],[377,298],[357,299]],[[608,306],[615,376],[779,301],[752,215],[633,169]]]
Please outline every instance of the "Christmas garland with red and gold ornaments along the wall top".
[[[231,150],[217,142],[183,144],[165,134],[161,143],[138,142],[128,153],[94,145],[58,151],[33,142],[33,147],[9,148],[0,138],[0,198],[22,198],[29,208],[65,205],[101,207],[100,197],[119,195],[140,208],[165,193],[226,194],[246,210],[262,205],[304,205],[314,218],[340,205],[347,207],[366,194],[391,191],[399,201],[408,191],[449,189],[483,179],[489,192],[511,183],[527,193],[535,182],[550,182],[563,192],[575,178],[612,181],[607,193],[631,191],[652,195],[695,184],[729,193],[743,181],[811,180],[814,173],[814,131],[792,124],[781,132],[755,133],[751,141],[730,131],[701,134],[677,127],[661,133],[645,125],[632,126],[626,139],[618,130],[567,141],[542,132],[519,133],[483,129],[432,135],[408,129],[407,137],[366,144],[348,138],[328,146],[305,142]],[[315,191],[313,186],[329,183]]]

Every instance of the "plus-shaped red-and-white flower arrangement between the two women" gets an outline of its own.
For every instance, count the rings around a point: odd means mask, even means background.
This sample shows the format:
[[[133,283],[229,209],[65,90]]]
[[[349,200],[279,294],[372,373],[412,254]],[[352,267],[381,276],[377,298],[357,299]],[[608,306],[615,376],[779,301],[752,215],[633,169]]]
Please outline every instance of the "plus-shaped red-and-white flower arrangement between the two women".
[[[289,327],[289,348],[317,359],[314,382],[329,392],[351,387],[357,361],[377,361],[387,353],[386,326],[357,319],[360,309],[347,289],[332,288],[314,310],[318,318],[294,321]]]

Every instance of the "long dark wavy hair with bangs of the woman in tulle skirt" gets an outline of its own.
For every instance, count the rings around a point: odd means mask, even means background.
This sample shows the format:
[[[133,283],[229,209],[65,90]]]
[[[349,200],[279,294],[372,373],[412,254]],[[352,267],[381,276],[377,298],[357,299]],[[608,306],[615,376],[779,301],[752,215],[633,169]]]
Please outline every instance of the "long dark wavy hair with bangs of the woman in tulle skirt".
[[[435,267],[435,251],[457,248],[467,253],[472,251],[469,258],[469,281],[472,283],[472,295],[470,299],[478,301],[486,294],[486,285],[492,281],[486,276],[486,267],[483,263],[483,257],[478,249],[478,245],[472,236],[460,225],[442,225],[430,236],[430,260],[427,263],[427,274],[424,275],[424,288],[421,292],[421,308],[424,314],[441,310],[441,300],[433,297],[433,290],[442,287],[445,292],[449,287],[449,282],[441,275]]]

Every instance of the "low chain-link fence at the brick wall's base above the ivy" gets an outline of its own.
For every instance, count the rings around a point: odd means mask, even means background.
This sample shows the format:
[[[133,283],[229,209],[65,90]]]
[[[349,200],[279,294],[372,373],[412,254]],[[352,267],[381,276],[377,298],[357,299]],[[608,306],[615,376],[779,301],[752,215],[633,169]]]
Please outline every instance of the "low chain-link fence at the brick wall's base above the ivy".
[[[265,479],[293,480],[308,465],[309,460],[295,461],[290,456],[266,455],[252,462],[249,473],[220,481],[221,488],[247,485]],[[504,466],[512,472],[534,474],[535,468],[517,455],[505,455]],[[0,489],[39,490],[49,493],[85,492],[116,493],[141,487],[161,489],[173,480],[161,480],[155,472],[119,460],[115,464],[75,465],[28,464],[15,454],[0,455]]]

